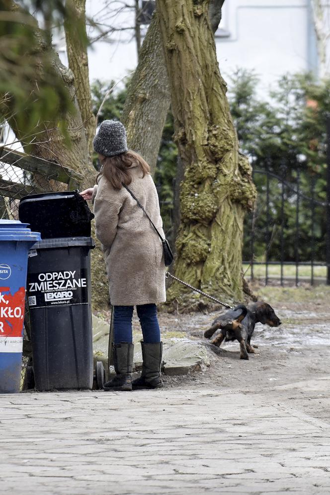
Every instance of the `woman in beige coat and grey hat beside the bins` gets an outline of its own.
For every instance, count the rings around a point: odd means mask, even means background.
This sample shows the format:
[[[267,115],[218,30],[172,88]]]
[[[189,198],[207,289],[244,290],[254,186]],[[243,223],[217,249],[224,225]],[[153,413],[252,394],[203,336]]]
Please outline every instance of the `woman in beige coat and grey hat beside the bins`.
[[[149,165],[140,155],[128,151],[121,122],[103,121],[93,145],[102,168],[97,185],[81,194],[84,199],[94,200],[96,237],[102,244],[114,309],[116,376],[104,385],[104,390],[160,388],[163,387],[160,373],[163,344],[156,305],[166,300],[163,246],[124,185],[133,192],[164,238],[157,190]],[[143,333],[143,369],[141,377],[132,382],[134,306]]]

